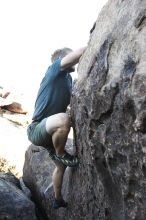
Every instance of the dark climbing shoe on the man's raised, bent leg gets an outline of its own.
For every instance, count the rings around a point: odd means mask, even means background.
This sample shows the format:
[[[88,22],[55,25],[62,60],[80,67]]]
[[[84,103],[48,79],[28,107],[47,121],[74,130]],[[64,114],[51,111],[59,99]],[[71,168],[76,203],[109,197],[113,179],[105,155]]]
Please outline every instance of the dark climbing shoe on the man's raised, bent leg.
[[[76,156],[70,155],[69,153],[65,152],[64,156],[57,156],[55,155],[55,159],[63,163],[65,166],[68,167],[78,167],[79,160]]]

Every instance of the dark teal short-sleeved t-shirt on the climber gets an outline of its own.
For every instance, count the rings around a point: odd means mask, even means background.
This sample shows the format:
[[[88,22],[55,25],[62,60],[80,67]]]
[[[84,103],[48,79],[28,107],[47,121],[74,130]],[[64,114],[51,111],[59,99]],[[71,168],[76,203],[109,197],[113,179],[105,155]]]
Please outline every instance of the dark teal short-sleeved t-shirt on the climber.
[[[71,98],[72,78],[69,73],[60,70],[60,63],[58,59],[49,66],[42,79],[32,117],[34,121],[66,112]]]

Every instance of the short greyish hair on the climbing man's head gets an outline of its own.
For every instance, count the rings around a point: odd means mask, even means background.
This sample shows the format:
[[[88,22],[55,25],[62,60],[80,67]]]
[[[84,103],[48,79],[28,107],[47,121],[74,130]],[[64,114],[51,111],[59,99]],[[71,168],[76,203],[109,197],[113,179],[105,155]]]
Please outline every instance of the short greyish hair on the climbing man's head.
[[[55,50],[54,53],[51,56],[52,63],[54,61],[56,61],[57,59],[59,59],[59,58],[62,59],[63,57],[65,57],[70,52],[72,52],[72,49],[70,49],[68,47],[64,47],[64,48]]]

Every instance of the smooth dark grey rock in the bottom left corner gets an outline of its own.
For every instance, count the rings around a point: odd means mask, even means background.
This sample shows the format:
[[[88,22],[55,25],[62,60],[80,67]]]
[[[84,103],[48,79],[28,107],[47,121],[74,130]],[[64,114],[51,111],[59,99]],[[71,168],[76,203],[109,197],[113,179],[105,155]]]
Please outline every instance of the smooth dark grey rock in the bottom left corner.
[[[13,175],[0,173],[0,220],[37,220],[34,204],[19,187]]]

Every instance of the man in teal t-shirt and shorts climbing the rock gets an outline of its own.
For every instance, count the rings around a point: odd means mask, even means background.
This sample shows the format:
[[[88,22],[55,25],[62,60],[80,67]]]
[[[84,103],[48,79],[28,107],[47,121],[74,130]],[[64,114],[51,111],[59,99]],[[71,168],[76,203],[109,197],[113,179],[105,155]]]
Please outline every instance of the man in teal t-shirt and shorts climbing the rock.
[[[70,103],[72,78],[84,48],[72,51],[69,48],[58,49],[52,55],[52,65],[42,79],[35,102],[32,123],[28,126],[29,140],[47,148],[56,168],[54,170],[53,188],[55,200],[53,207],[67,207],[61,194],[65,169],[77,167],[78,158],[65,151],[65,144],[70,131],[70,118],[66,113]]]

